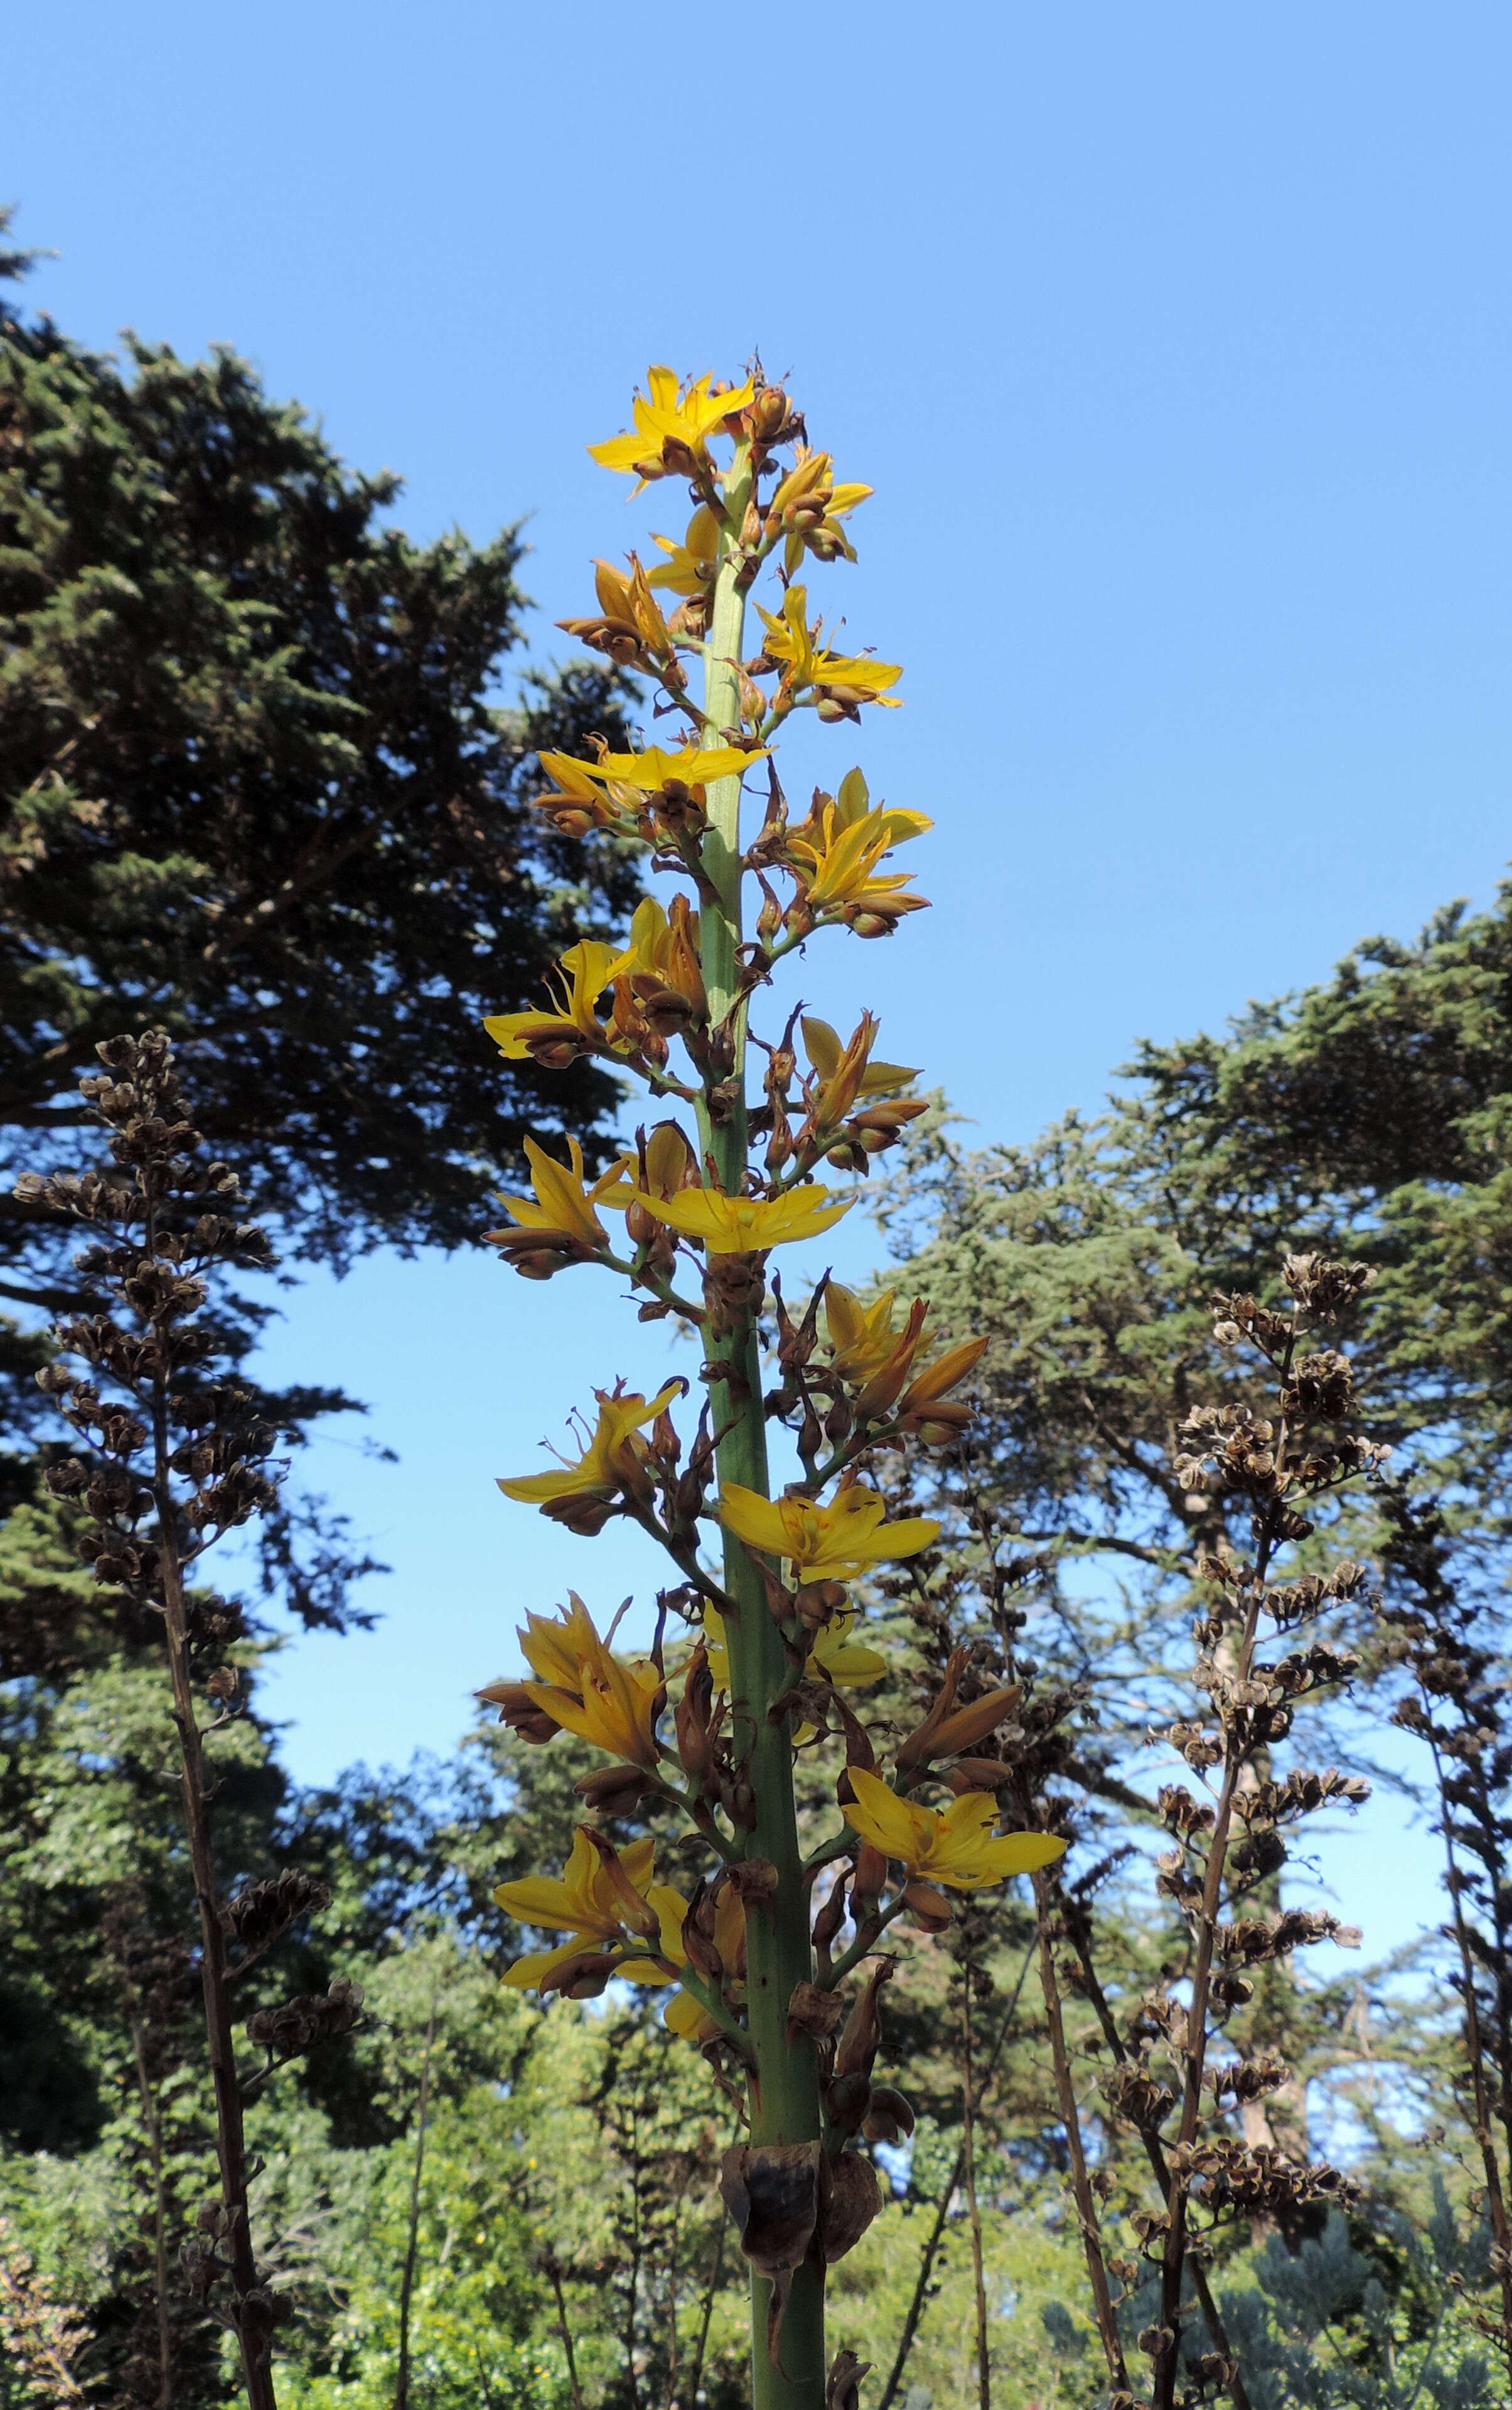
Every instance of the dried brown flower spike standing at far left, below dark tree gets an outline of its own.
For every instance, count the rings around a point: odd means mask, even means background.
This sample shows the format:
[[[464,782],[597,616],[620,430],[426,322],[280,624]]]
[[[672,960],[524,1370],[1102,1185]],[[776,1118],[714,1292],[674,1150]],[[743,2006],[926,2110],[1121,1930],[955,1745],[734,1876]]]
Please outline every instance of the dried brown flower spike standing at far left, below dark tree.
[[[253,2256],[243,2106],[277,2061],[349,2032],[361,2008],[356,1986],[337,1976],[320,1998],[255,2010],[246,2032],[262,2044],[265,2065],[238,2070],[231,1983],[330,1897],[320,1882],[287,1870],[222,1899],[209,1832],[217,1786],[205,1745],[241,1714],[241,1665],[231,1651],[246,1624],[234,1603],[197,1586],[197,1564],[224,1533],[277,1501],[279,1480],[279,1432],[248,1386],[217,1364],[224,1342],[214,1285],[231,1270],[262,1272],[274,1258],[265,1234],[238,1212],[236,1174],[207,1154],[193,1125],[169,1039],[147,1031],[96,1051],[104,1070],[79,1089],[108,1133],[111,1169],[29,1171],[17,1181],[29,1207],[67,1215],[89,1232],[77,1256],[89,1311],[58,1323],[58,1362],[39,1374],[79,1453],[55,1460],[46,1477],[79,1518],[77,1547],[94,1579],[125,1593],[140,1627],[156,1624],[164,1639],[164,1723],[181,1759],[222,2169],[222,2198],[185,2244],[183,2263],[195,2294],[236,2333],[250,2410],[272,2410],[272,2328],[287,2304]],[[147,2032],[152,1983],[161,1981],[147,1974],[128,1930],[116,1957]]]

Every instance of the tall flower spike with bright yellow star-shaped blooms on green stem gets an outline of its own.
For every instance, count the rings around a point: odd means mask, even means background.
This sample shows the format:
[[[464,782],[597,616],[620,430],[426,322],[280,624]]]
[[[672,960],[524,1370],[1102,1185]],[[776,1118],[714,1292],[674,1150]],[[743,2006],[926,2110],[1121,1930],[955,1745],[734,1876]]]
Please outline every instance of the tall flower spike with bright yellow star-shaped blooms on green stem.
[[[847,766],[797,817],[799,774],[778,759],[804,728],[900,701],[898,663],[843,651],[802,583],[855,562],[850,521],[872,489],[835,480],[833,453],[758,366],[725,383],[652,366],[631,427],[590,451],[636,492],[686,484],[691,516],[672,523],[679,533],[648,530],[650,569],[645,537],[626,566],[600,559],[595,607],[563,622],[650,684],[648,742],[592,759],[544,752],[537,803],[568,836],[640,846],[648,894],[621,945],[568,947],[539,1010],[486,1027],[506,1058],[544,1070],[609,1058],[645,1084],[650,1111],[633,1152],[595,1181],[575,1140],[566,1162],[530,1140],[532,1193],[506,1195],[510,1227],[491,1244],[537,1280],[587,1263],[628,1277],[640,1321],[677,1316],[693,1330],[701,1398],[679,1429],[686,1381],[600,1388],[580,1453],[501,1489],[583,1535],[633,1516],[667,1550],[677,1593],[701,1595],[703,1634],[684,1653],[619,1656],[573,1598],[559,1617],[527,1615],[527,1670],[482,1697],[532,1745],[566,1730],[604,1752],[580,1783],[590,1812],[638,1803],[679,1817],[696,1887],[684,1897],[652,1880],[650,1839],[616,1848],[583,1827],[563,1875],[501,1885],[513,1918],[566,1935],[506,1981],[571,1998],[616,1976],[662,1983],[667,2024],[746,2087],[749,2135],[725,2188],[754,2277],[751,2403],[819,2410],[826,2265],[879,2200],[857,2142],[903,2130],[888,2106],[903,2097],[869,2089],[886,2046],[881,1942],[903,1918],[944,1930],[951,1892],[1047,1865],[1062,1844],[994,1834],[992,1795],[970,1788],[978,1767],[963,1752],[1009,1716],[1006,1685],[961,1706],[956,1670],[896,1742],[893,1781],[881,1730],[847,1699],[886,1673],[857,1636],[847,1583],[939,1538],[932,1516],[888,1521],[862,1477],[867,1456],[898,1432],[956,1436],[980,1342],[937,1330],[922,1297],[860,1299],[814,1265],[804,1311],[773,1277],[778,1362],[766,1362],[773,1251],[814,1246],[850,1205],[821,1166],[864,1171],[925,1111],[917,1070],[879,1058],[864,995],[840,1027],[797,1005],[758,1027],[797,947],[831,930],[891,937],[925,909],[893,856],[927,834],[927,812],[874,800]],[[609,1212],[624,1215],[624,1246]],[[780,1497],[768,1410],[804,1465]],[[809,1863],[797,1745],[835,1750],[845,1803]],[[920,1798],[932,1786],[939,1808]],[[831,1863],[838,1880],[814,1911],[814,1875]],[[855,1940],[835,1957],[845,1916]],[[847,2017],[843,1986],[867,1959]]]

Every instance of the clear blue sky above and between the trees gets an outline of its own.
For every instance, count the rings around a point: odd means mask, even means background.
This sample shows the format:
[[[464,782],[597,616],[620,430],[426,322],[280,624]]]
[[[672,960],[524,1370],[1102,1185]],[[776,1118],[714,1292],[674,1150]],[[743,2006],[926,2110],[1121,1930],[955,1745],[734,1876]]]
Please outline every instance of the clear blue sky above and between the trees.
[[[1493,5],[70,0],[7,29],[0,181],[70,333],[234,342],[419,535],[530,513],[542,653],[667,525],[583,451],[648,359],[790,371],[876,487],[826,605],[908,665],[811,774],[939,822],[937,911],[807,993],[1026,1138],[1139,1034],[1495,887],[1510,65]],[[525,1605],[652,1571],[491,1485],[665,1366],[571,1287],[373,1260],[274,1340],[402,1456],[320,1451],[395,1574],[274,1670],[301,1776],[450,1747]]]

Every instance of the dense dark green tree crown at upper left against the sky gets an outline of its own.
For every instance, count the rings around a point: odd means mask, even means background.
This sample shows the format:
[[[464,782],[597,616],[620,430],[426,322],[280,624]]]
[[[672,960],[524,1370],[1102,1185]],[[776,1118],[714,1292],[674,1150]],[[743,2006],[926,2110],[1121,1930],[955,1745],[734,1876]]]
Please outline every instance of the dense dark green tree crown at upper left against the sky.
[[[0,304],[14,1169],[79,1123],[96,1039],[149,1022],[284,1248],[335,1265],[472,1239],[527,1128],[612,1111],[479,1022],[631,901],[624,858],[527,812],[537,747],[624,742],[631,687],[585,665],[498,709],[520,540],[414,545],[397,492],[231,352],[132,337],[123,371]],[[60,1309],[53,1229],[7,1205],[0,1241],[0,1297]]]

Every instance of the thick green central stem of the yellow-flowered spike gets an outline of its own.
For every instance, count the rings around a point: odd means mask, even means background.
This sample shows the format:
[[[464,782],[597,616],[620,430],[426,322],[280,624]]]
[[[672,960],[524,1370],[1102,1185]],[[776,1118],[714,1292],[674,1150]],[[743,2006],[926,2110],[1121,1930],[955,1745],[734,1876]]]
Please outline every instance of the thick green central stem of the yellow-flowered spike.
[[[751,455],[739,446],[725,477],[722,533],[715,566],[715,598],[703,658],[703,711],[710,733],[739,728],[739,660],[744,651],[744,595],[739,588],[739,530],[751,499]],[[739,998],[737,947],[742,940],[742,836],[739,776],[708,786],[708,836],[703,870],[713,901],[701,911],[703,986],[710,1027],[730,1036],[730,1089],[722,1116],[708,1109],[708,1087],[698,1106],[698,1145],[713,1157],[720,1186],[739,1195],[746,1174],[746,1094],[744,1094],[744,1007]],[[730,1376],[713,1381],[713,1419],[722,1432],[715,1463],[720,1487],[742,1482],[770,1494],[766,1463],[766,1415],[761,1407],[761,1354],[751,1318],[710,1333],[710,1364],[727,1364]],[[754,1827],[746,1853],[768,1858],[778,1870],[778,1889],[766,1901],[751,1901],[746,1914],[746,2017],[756,2073],[751,2077],[751,2142],[816,2142],[821,2135],[819,2061],[807,2036],[787,2041],[787,2000],[795,1983],[811,1981],[809,1894],[797,1846],[797,1808],[792,1798],[792,1742],[787,1718],[770,1721],[770,1701],[790,1682],[782,1636],[766,1605],[766,1583],[756,1562],[734,1535],[725,1535],[725,1588],[734,1615],[725,1627],[730,1646],[730,1689],[734,1706],[734,1745],[746,1762],[754,1793]],[[821,2410],[826,2388],[823,2357],[823,2263],[811,2253],[795,2273],[778,2362],[766,2350],[770,2285],[751,2275],[751,2410]]]

